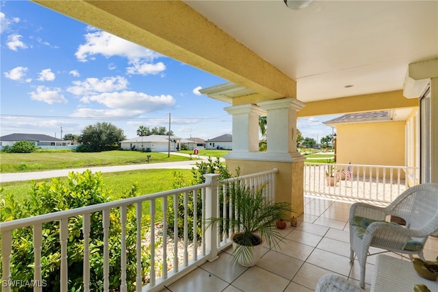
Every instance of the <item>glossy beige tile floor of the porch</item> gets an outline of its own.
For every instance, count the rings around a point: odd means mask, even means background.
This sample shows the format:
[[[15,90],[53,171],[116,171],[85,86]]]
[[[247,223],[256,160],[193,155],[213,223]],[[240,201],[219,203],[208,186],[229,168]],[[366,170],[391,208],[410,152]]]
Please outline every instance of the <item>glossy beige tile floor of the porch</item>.
[[[351,265],[348,259],[349,211],[350,204],[345,202],[306,197],[305,214],[298,218],[298,226],[281,230],[285,236],[281,249],[265,249],[256,266],[233,265],[230,248],[218,260],[200,265],[163,291],[314,291],[325,273],[337,273],[358,284],[359,265],[356,260]],[[438,238],[428,239],[424,255],[426,259],[438,256]],[[368,257],[366,291],[370,291],[375,258]]]

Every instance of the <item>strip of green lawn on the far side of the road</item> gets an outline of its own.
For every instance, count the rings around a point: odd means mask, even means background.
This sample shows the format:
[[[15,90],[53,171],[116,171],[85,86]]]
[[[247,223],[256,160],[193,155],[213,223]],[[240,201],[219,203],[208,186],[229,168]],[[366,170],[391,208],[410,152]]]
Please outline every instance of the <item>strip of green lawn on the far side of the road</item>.
[[[0,172],[14,173],[44,171],[51,169],[71,169],[81,167],[102,167],[112,165],[136,165],[148,163],[190,160],[183,156],[140,151],[103,151],[80,153],[73,151],[42,151],[34,153],[0,152]],[[194,157],[196,158],[196,157]]]

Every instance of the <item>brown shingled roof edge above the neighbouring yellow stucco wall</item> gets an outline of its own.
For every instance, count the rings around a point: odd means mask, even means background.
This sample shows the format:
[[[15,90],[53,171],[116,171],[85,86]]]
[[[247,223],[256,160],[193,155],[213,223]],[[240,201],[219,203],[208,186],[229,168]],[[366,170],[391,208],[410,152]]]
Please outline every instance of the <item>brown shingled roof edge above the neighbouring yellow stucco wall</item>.
[[[355,112],[353,114],[344,114],[341,117],[323,122],[331,127],[339,124],[350,123],[376,123],[394,121],[394,112],[391,110],[381,110],[378,112]]]

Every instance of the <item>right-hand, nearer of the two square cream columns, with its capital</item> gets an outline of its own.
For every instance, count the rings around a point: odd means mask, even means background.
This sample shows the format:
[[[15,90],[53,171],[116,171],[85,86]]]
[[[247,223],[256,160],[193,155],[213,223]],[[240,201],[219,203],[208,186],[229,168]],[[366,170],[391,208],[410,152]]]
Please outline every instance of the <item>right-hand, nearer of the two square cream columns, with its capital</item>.
[[[295,153],[296,112],[305,104],[298,99],[283,98],[257,105],[268,112],[268,153]]]

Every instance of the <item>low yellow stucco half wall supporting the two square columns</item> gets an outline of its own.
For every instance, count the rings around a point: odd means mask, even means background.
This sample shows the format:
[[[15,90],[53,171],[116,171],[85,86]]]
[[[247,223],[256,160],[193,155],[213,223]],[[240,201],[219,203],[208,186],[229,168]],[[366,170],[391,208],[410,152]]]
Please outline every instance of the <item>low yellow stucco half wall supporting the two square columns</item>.
[[[292,207],[292,214],[288,217],[298,217],[304,213],[304,186],[303,168],[304,160],[297,162],[269,162],[255,160],[236,160],[227,159],[229,171],[235,173],[235,169],[240,167],[240,174],[246,175],[271,169],[279,169],[276,175],[276,202],[288,202]],[[289,219],[286,218],[286,219]]]

